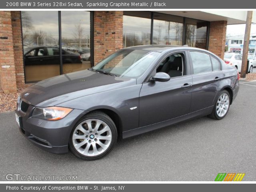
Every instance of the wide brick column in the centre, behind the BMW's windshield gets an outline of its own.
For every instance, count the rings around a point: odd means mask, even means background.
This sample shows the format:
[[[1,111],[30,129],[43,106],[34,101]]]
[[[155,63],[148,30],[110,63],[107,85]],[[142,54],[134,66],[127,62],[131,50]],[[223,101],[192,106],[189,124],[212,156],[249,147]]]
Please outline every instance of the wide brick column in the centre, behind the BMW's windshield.
[[[123,48],[123,12],[94,12],[94,64]]]

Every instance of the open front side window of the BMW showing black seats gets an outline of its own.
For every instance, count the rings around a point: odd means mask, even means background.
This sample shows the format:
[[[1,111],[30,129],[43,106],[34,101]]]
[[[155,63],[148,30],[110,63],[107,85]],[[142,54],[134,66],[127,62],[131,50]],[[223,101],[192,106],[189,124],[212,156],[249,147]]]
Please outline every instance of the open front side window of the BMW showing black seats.
[[[158,66],[156,72],[164,72],[170,77],[178,77],[184,75],[184,54],[176,53],[167,56]]]

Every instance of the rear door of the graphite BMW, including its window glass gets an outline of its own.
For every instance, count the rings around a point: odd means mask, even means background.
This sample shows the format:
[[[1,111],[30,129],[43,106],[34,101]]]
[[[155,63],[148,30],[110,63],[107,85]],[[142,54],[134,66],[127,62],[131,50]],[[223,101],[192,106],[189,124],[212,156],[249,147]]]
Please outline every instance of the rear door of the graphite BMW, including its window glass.
[[[214,105],[218,81],[222,79],[220,61],[206,52],[190,51],[192,98],[190,112]]]

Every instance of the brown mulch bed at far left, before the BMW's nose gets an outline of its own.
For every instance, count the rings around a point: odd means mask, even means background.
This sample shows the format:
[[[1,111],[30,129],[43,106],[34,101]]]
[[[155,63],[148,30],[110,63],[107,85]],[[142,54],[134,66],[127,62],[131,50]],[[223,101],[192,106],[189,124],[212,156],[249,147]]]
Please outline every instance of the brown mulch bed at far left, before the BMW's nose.
[[[0,112],[13,111],[16,109],[17,98],[23,89],[18,89],[17,93],[5,94],[0,88]]]

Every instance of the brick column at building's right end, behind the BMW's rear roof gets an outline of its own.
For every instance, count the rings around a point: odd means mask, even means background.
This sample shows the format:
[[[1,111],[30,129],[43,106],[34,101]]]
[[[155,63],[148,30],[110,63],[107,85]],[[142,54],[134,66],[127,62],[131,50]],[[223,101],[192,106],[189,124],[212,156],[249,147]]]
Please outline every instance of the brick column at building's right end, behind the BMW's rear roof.
[[[224,58],[227,21],[210,22],[209,51]]]

